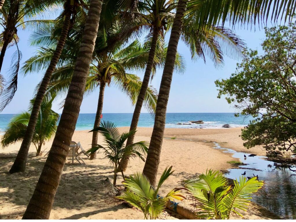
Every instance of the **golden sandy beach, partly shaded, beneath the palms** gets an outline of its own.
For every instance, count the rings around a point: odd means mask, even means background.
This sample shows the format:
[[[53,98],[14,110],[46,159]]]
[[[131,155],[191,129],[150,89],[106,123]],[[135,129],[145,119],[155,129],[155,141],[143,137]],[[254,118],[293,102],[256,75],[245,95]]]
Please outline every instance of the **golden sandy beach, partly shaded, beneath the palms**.
[[[120,131],[128,131],[128,127]],[[213,149],[213,142],[222,147],[236,151],[265,155],[260,147],[247,150],[239,137],[240,128],[229,129],[177,129],[167,128],[163,140],[158,176],[168,165],[173,165],[175,172],[162,186],[160,193],[166,193],[180,186],[181,181],[196,178],[207,169],[227,170],[231,165],[227,161],[237,160],[231,154]],[[138,128],[135,141],[149,141],[152,128]],[[176,139],[171,139],[176,137]],[[91,133],[75,131],[73,141],[80,141],[84,149],[91,146]],[[44,154],[49,150],[52,141],[47,142]],[[102,144],[102,137],[99,138]],[[0,219],[20,219],[34,191],[46,157],[35,157],[36,150],[30,147],[27,169],[25,173],[10,175],[20,143],[0,150]],[[50,219],[143,219],[139,210],[128,208],[114,198],[115,190],[106,177],[112,180],[112,169],[108,160],[99,153],[96,160],[88,160],[83,156],[85,165],[70,160],[65,164],[59,188],[55,197]],[[144,162],[131,160],[126,174],[143,169]],[[122,177],[118,176],[117,184]],[[244,213],[246,219],[274,219],[274,214],[258,205],[252,204],[251,210]],[[180,218],[178,215],[165,212],[163,219]]]

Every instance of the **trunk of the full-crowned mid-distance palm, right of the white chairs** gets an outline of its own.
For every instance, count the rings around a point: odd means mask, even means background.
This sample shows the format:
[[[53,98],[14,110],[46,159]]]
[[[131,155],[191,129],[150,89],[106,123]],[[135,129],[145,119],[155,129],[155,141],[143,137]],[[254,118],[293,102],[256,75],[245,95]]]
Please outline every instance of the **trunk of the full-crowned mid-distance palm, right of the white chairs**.
[[[105,91],[106,82],[102,81],[100,83],[100,93],[99,93],[99,100],[98,100],[98,107],[96,109],[96,119],[94,120],[94,128],[100,126],[101,122],[101,115],[103,110],[103,101],[104,101],[104,91]],[[95,147],[98,143],[98,131],[93,132],[93,138],[91,141],[91,147]],[[96,152],[92,153],[90,159],[96,159]]]

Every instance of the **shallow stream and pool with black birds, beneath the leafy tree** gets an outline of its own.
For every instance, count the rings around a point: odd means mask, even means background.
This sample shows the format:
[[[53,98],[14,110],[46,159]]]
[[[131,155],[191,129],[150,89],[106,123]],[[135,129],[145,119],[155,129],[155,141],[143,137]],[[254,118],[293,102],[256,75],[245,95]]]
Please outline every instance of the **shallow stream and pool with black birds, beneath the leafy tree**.
[[[286,219],[296,219],[296,173],[287,168],[277,168],[274,162],[263,156],[249,157],[247,153],[239,153],[226,149],[215,143],[216,149],[225,149],[224,152],[233,153],[244,164],[243,169],[229,169],[225,174],[228,178],[239,178],[246,171],[246,177],[258,175],[264,181],[262,189],[256,193],[252,201],[266,207],[270,211]],[[244,157],[246,155],[246,157]],[[295,169],[295,168],[294,168]]]

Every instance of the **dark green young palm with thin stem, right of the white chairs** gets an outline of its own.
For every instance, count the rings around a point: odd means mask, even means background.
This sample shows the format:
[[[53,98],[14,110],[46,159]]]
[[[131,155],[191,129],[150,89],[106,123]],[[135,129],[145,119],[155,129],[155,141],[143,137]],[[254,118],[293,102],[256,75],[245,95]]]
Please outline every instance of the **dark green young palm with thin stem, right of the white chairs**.
[[[147,153],[147,145],[146,141],[140,141],[128,146],[125,146],[124,142],[132,133],[136,131],[130,131],[127,133],[120,134],[118,128],[114,123],[109,121],[103,121],[100,124],[100,127],[94,128],[92,131],[97,131],[102,134],[104,137],[105,146],[96,144],[96,146],[92,147],[87,153],[95,153],[98,150],[102,149],[104,151],[104,155],[107,159],[109,159],[110,165],[114,169],[114,178],[113,184],[116,184],[116,178],[118,174],[118,166],[120,165],[120,161],[122,158],[129,157],[135,158],[139,157],[141,160],[145,161],[145,155]],[[122,177],[124,179],[123,171],[121,171]]]

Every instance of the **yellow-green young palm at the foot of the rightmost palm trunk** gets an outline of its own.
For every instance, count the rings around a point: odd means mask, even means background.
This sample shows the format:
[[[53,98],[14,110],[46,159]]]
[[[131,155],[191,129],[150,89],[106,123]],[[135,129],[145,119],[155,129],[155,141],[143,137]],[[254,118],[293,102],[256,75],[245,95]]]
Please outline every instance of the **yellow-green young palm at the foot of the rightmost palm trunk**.
[[[172,166],[165,168],[156,189],[150,185],[146,176],[142,173],[134,173],[130,179],[125,179],[123,184],[126,191],[117,198],[125,200],[144,213],[144,219],[157,219],[165,209],[168,201],[182,200],[184,197],[179,190],[171,190],[165,197],[160,197],[158,191],[160,186],[174,172]]]

